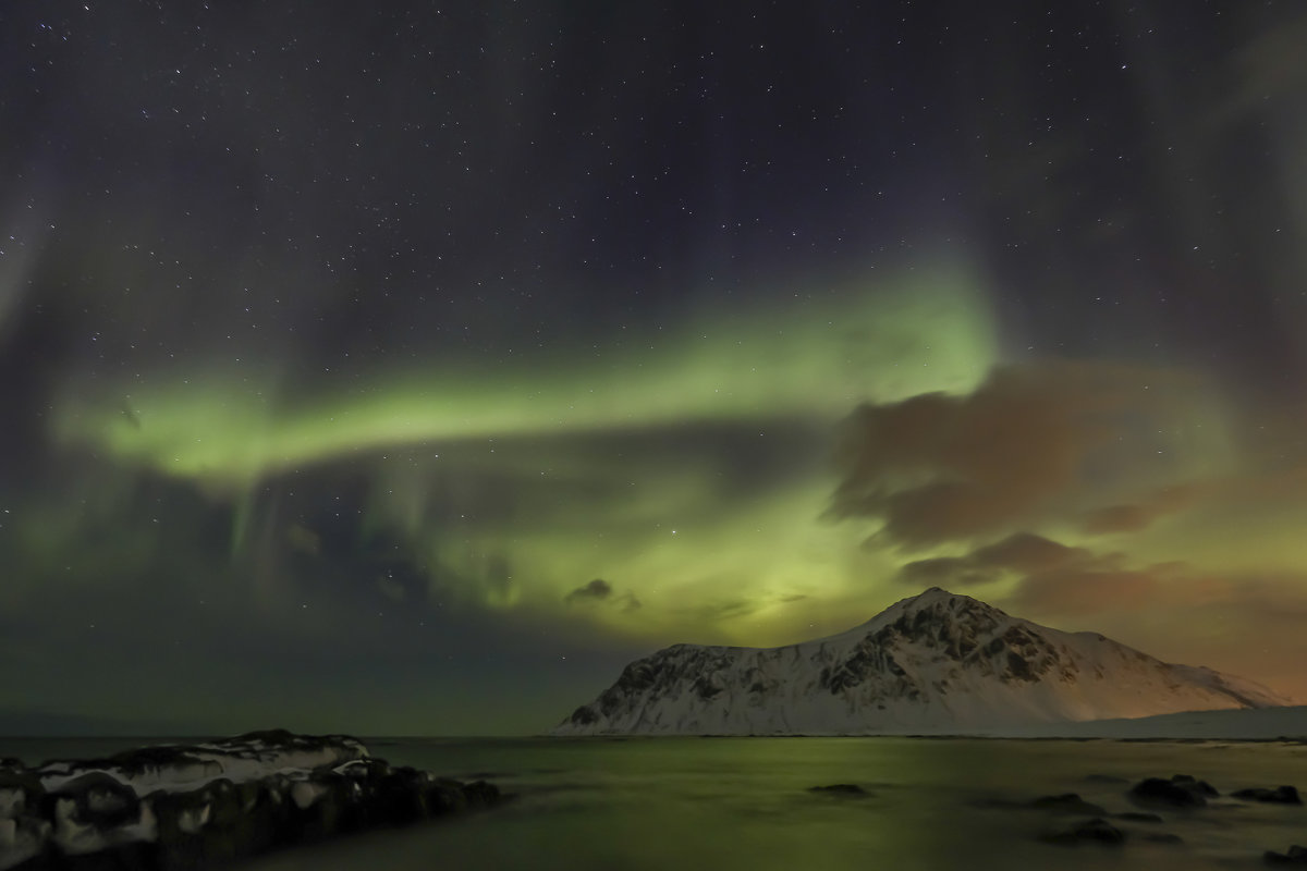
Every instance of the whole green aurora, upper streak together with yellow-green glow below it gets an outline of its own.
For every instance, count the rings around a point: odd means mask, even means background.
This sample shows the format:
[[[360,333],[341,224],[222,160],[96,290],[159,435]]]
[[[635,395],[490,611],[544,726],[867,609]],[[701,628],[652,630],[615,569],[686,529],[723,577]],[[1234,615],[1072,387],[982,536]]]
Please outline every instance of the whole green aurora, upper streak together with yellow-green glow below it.
[[[779,642],[893,571],[859,547],[865,528],[822,520],[834,424],[867,400],[968,392],[999,354],[987,294],[962,268],[623,338],[588,358],[409,368],[297,397],[271,363],[257,381],[204,363],[116,390],[73,383],[55,434],[230,503],[238,552],[254,547],[264,482],[345,462],[367,470],[366,525],[399,537],[442,595],[566,609],[637,636]],[[733,448],[694,437],[796,423],[816,435],[769,454],[748,495],[723,483]],[[495,491],[511,509],[451,522],[451,504]],[[612,581],[608,601],[567,598],[595,577]]]

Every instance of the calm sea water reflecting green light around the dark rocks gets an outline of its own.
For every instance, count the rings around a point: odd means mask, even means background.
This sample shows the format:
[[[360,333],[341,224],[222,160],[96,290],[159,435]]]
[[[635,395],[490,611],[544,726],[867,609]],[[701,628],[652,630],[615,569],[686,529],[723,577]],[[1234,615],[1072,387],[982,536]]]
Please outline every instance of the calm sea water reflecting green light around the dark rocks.
[[[34,764],[140,746],[0,739]],[[514,798],[485,812],[278,853],[242,868],[362,871],[797,871],[881,868],[1260,868],[1307,845],[1307,808],[1212,799],[1110,819],[1119,846],[1043,838],[1085,820],[1029,806],[1078,793],[1108,814],[1145,777],[1192,774],[1229,795],[1307,789],[1307,744],[1287,740],[950,738],[374,738],[374,756]],[[812,791],[848,784],[861,793]],[[1157,836],[1176,836],[1158,838]]]

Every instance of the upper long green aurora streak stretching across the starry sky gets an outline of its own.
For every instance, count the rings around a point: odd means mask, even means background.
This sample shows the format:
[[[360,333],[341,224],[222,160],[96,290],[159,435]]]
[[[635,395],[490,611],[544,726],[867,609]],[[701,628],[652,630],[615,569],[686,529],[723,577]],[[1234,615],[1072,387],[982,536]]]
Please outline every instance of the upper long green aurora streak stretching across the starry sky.
[[[127,464],[239,487],[271,471],[442,440],[835,419],[868,398],[968,390],[996,354],[983,290],[950,269],[792,311],[710,313],[673,338],[659,333],[589,359],[528,359],[495,372],[408,368],[285,402],[274,363],[261,379],[214,375],[203,362],[116,389],[71,385],[55,432]]]

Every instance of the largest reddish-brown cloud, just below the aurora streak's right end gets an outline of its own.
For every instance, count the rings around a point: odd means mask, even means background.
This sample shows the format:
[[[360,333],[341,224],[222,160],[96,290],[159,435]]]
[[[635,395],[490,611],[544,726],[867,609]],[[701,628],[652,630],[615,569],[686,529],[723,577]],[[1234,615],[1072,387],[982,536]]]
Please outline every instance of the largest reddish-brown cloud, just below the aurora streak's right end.
[[[1070,509],[1158,453],[1188,380],[1129,367],[996,370],[968,396],[867,404],[842,426],[830,512],[872,517],[889,543],[924,547],[1002,533]]]

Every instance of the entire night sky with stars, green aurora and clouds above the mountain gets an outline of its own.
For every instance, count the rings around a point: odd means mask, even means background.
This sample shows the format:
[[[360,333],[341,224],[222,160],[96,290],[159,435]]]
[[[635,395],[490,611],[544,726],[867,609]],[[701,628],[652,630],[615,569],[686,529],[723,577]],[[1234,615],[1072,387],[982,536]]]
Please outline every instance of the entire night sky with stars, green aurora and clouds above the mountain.
[[[536,733],[932,585],[1307,699],[1303,44],[0,5],[0,729]]]

